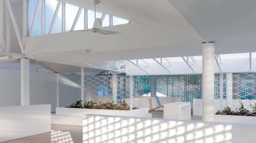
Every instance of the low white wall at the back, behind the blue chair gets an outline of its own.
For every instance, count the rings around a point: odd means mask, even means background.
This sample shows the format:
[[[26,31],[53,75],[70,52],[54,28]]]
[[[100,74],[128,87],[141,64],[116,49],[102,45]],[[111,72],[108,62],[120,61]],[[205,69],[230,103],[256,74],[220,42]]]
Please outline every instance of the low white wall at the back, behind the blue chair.
[[[182,102],[181,97],[158,97],[162,105],[172,103],[172,102]],[[129,102],[129,99],[127,99]],[[152,110],[158,107],[155,97],[134,97],[133,98],[134,107],[146,107],[148,110]],[[163,110],[163,108],[158,108],[156,110]]]

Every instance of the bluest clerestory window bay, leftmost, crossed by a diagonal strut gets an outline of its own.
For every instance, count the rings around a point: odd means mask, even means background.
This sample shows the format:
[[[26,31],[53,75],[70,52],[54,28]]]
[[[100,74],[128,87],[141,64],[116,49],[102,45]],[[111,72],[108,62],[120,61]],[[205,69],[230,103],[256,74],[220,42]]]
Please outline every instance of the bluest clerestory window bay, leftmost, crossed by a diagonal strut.
[[[32,21],[33,21],[34,15],[35,15],[36,5],[37,5],[37,0],[28,0],[28,31],[29,32],[31,30]],[[40,4],[32,36],[42,34],[42,32],[41,32],[41,28],[42,28],[41,14],[42,14],[42,8],[41,8],[41,4]]]

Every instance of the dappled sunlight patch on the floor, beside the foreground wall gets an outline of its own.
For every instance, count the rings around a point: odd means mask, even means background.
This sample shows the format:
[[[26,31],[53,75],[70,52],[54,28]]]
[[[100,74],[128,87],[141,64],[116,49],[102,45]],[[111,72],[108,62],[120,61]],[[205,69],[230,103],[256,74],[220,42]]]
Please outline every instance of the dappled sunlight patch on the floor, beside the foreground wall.
[[[51,143],[74,143],[69,131],[51,130]]]

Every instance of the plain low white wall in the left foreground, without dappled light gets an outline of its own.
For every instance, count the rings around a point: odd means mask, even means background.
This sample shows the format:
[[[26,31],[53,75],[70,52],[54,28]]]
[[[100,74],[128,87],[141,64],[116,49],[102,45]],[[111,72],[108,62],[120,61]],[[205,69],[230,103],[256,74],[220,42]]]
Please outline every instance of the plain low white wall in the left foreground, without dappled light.
[[[0,142],[51,131],[51,105],[0,107]]]

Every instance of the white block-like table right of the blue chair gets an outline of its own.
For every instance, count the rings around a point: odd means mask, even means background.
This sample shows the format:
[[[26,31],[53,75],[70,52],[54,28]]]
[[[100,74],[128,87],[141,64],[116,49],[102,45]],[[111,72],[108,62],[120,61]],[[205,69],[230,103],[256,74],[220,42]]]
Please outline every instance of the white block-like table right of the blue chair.
[[[173,102],[163,105],[163,118],[191,120],[190,102]]]

